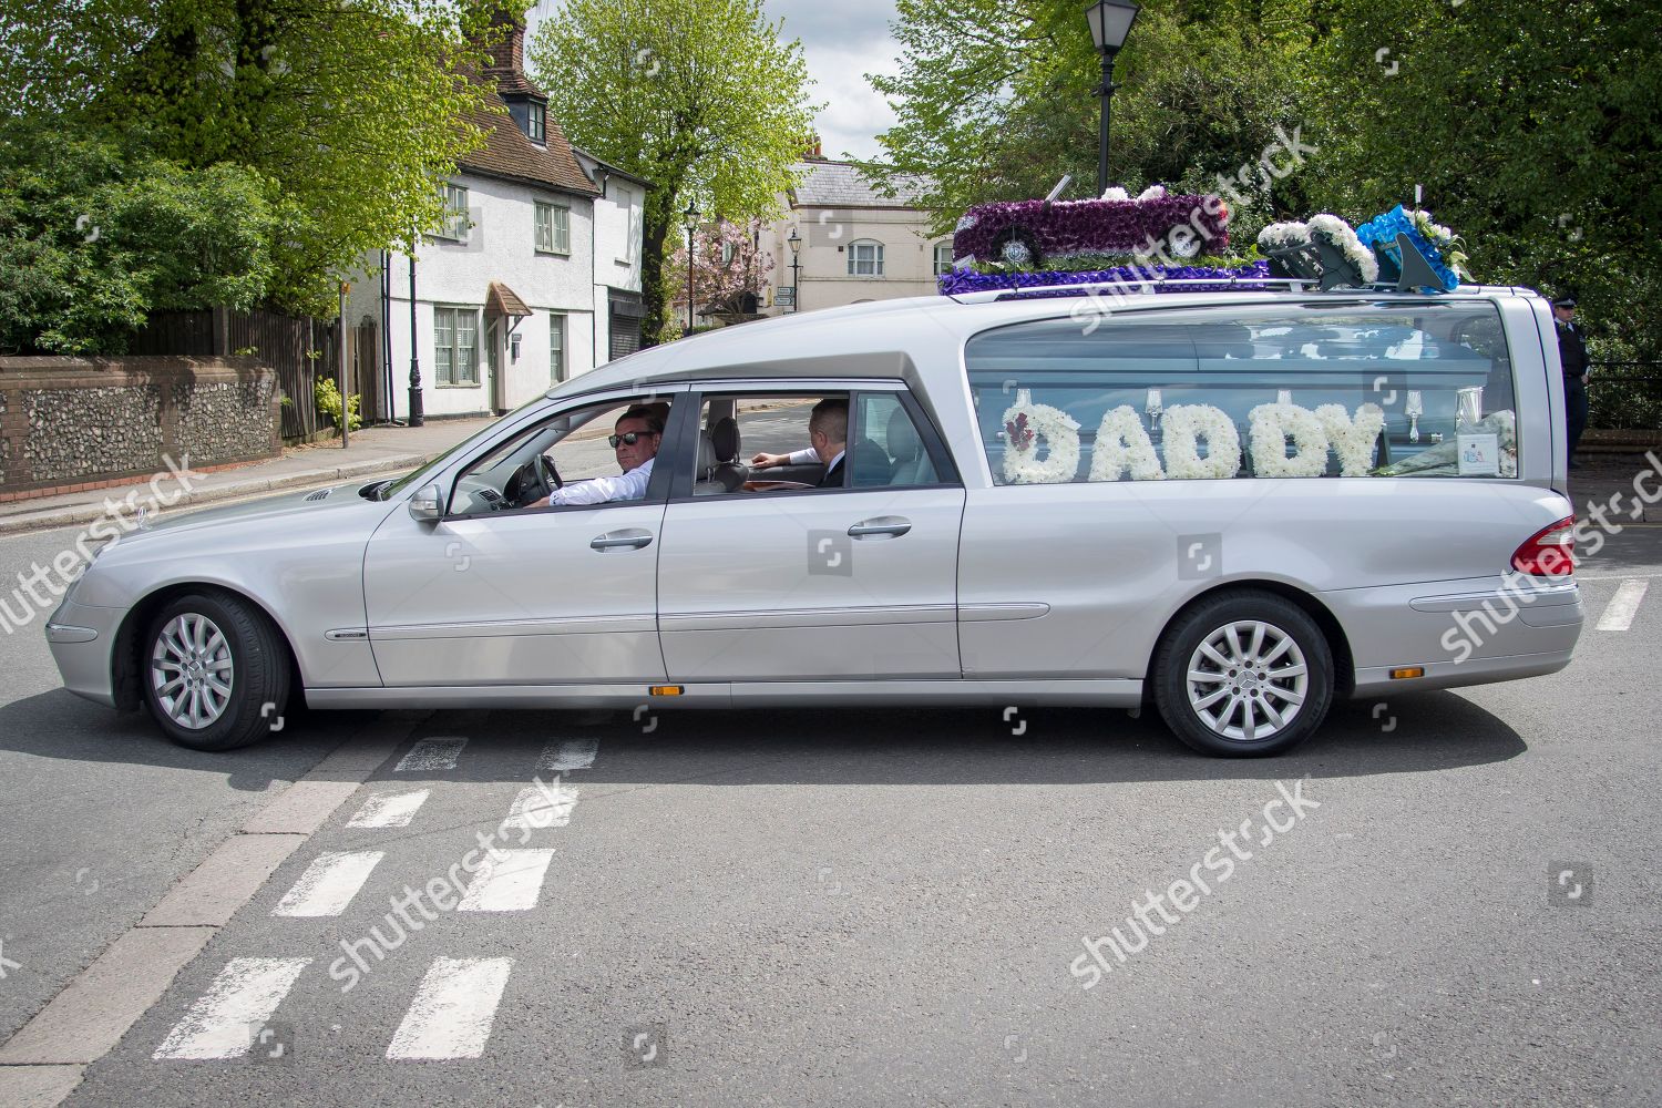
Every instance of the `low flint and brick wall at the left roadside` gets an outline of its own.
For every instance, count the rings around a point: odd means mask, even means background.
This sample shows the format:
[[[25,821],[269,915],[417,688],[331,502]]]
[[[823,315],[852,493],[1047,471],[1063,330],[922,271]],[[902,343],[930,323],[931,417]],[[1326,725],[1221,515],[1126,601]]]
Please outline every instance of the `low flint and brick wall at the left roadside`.
[[[258,357],[0,357],[0,500],[283,452]]]

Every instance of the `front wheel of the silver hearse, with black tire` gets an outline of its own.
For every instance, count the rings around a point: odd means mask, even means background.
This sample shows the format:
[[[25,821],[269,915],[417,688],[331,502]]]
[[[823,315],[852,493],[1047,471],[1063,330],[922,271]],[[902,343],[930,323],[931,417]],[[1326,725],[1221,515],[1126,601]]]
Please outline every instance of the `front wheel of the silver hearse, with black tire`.
[[[179,746],[231,751],[286,723],[288,645],[266,613],[239,596],[171,600],[145,628],[138,663],[145,706]],[[224,673],[229,683],[219,679]]]

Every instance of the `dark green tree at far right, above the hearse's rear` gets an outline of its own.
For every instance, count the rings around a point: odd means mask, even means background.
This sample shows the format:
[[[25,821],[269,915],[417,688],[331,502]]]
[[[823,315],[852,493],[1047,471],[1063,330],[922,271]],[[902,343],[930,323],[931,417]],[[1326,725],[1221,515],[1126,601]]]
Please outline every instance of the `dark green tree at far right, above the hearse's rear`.
[[[1365,218],[1423,184],[1478,279],[1574,289],[1604,336],[1597,354],[1662,357],[1655,10],[1343,0],[1340,12],[1310,103],[1365,125],[1335,128],[1315,199]]]

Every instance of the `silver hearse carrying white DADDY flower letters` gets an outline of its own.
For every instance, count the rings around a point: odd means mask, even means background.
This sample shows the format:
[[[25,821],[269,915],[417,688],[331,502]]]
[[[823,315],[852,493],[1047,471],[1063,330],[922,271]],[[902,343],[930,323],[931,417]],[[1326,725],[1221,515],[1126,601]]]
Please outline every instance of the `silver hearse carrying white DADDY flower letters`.
[[[196,749],[304,698],[1155,706],[1275,754],[1336,696],[1569,663],[1561,379],[1547,304],[1504,287],[788,316],[399,480],[123,535],[47,633],[70,691]]]

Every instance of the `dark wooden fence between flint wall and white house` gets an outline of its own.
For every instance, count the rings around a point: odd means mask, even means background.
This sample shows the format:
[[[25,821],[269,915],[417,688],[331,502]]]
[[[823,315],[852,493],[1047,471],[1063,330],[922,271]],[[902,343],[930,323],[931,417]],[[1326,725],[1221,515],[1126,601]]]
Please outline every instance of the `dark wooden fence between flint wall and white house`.
[[[156,312],[133,342],[133,354],[193,357],[253,354],[278,374],[283,439],[297,442],[329,425],[317,414],[317,377],[339,380],[341,339],[336,321],[228,309]],[[381,344],[374,324],[347,331],[346,392],[361,394],[366,422],[381,410]]]

